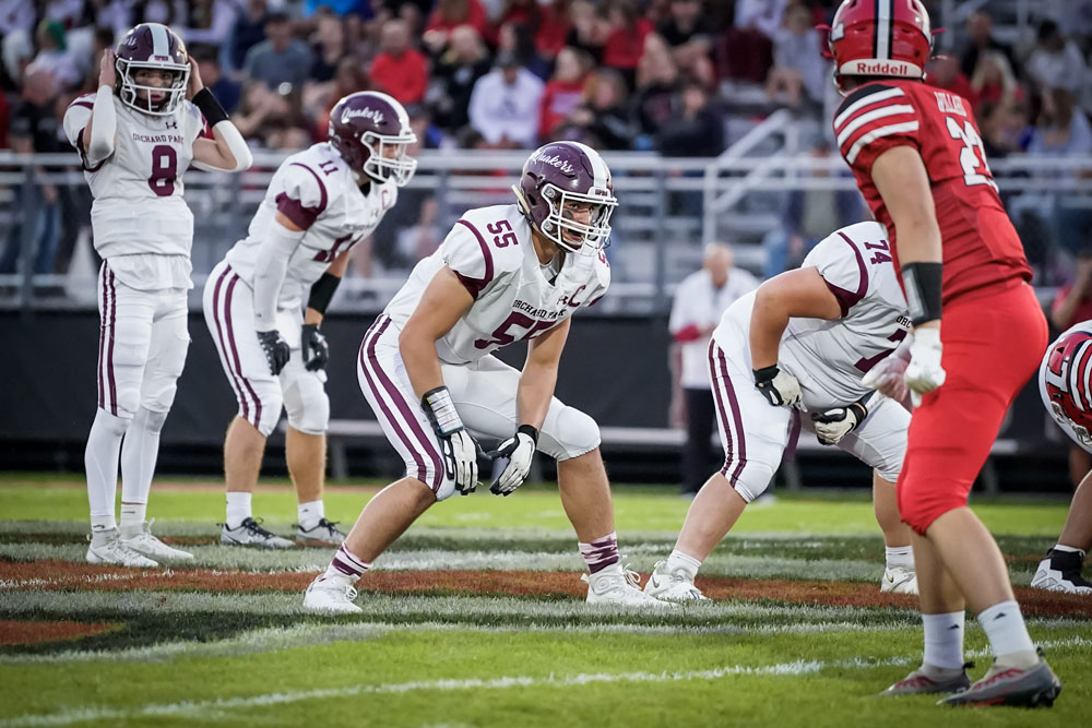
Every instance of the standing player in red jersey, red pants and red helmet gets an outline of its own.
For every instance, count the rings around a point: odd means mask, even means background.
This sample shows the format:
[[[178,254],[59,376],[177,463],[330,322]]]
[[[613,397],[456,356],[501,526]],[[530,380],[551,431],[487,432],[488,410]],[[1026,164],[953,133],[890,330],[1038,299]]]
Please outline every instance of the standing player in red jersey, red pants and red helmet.
[[[996,541],[968,508],[1001,419],[1046,347],[1031,270],[971,105],[923,83],[931,33],[919,0],[844,0],[830,51],[845,95],[838,146],[888,228],[914,323],[913,343],[868,378],[881,390],[901,378],[917,405],[898,499],[915,534],[925,658],[882,694],[1049,705],[1061,683],[1032,644]],[[966,607],[995,655],[973,685],[963,666]]]

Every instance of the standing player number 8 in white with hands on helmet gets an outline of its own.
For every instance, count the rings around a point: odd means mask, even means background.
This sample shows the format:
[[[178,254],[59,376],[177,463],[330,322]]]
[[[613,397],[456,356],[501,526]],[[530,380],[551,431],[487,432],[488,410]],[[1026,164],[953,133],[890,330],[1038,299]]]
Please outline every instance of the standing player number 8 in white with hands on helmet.
[[[181,39],[158,23],[129,31],[117,53],[106,50],[98,82],[97,93],[64,112],[64,133],[80,151],[95,199],[91,225],[103,258],[98,411],[85,452],[87,561],[154,566],[191,558],[152,536],[145,523],[159,431],[190,342],[193,215],[182,200],[182,174],[190,164],[240,171],[251,156]],[[211,135],[202,135],[205,124]]]

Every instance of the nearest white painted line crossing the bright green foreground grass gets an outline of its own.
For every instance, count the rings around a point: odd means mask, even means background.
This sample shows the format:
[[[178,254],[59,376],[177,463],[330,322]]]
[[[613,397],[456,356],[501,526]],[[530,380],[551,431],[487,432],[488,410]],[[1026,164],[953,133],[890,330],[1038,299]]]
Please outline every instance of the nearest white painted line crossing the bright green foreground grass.
[[[1092,640],[1085,637],[1070,637],[1057,643],[1044,644],[1044,647],[1068,648],[1085,647],[1092,645]],[[969,653],[968,656],[984,656],[984,651]],[[286,705],[311,700],[332,700],[342,697],[355,697],[363,695],[397,695],[424,691],[458,692],[465,690],[508,690],[512,688],[571,688],[594,683],[642,683],[642,682],[685,682],[693,680],[723,680],[735,676],[769,676],[769,677],[799,677],[804,675],[816,675],[828,668],[868,669],[881,666],[911,665],[919,657],[892,657],[886,659],[873,659],[858,656],[847,660],[835,660],[824,663],[821,660],[796,660],[793,663],[779,663],[775,665],[728,665],[708,670],[689,670],[685,672],[581,672],[578,675],[558,677],[549,675],[546,677],[534,676],[505,676],[482,680],[471,679],[440,679],[440,680],[418,680],[413,682],[380,683],[376,685],[356,684],[343,688],[328,688],[320,690],[306,690],[294,692],[265,693],[262,695],[250,695],[239,697],[221,697],[210,701],[182,701],[179,703],[153,703],[139,708],[117,709],[104,707],[76,708],[74,711],[60,711],[44,715],[23,715],[0,720],[0,728],[32,728],[36,726],[66,726],[73,723],[90,723],[99,720],[132,720],[152,717],[180,717],[180,718],[207,718],[223,711],[269,707],[273,705]]]

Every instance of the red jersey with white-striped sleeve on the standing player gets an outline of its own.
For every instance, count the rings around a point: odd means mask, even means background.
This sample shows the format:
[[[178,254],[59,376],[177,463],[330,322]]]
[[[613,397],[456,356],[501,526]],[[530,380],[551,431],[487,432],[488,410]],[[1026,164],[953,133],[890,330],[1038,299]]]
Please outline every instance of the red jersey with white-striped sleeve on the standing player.
[[[842,102],[834,116],[834,135],[892,243],[894,225],[873,183],[873,163],[894,146],[912,146],[921,154],[943,244],[945,303],[990,284],[1031,279],[966,99],[909,79],[870,82]],[[891,250],[894,253],[897,247]],[[897,254],[894,263],[899,265]]]

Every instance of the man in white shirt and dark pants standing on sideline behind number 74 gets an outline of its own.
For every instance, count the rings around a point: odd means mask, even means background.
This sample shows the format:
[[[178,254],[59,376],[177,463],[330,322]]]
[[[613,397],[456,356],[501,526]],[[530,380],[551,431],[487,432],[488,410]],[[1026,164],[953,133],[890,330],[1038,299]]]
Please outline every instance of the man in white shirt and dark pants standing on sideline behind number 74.
[[[679,371],[687,419],[682,450],[682,493],[693,496],[709,475],[713,435],[713,392],[707,361],[709,338],[732,303],[758,287],[747,271],[732,266],[732,249],[723,242],[705,246],[701,270],[675,291],[668,329],[682,355]]]

